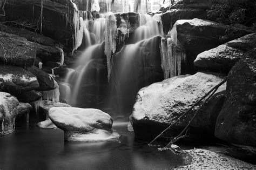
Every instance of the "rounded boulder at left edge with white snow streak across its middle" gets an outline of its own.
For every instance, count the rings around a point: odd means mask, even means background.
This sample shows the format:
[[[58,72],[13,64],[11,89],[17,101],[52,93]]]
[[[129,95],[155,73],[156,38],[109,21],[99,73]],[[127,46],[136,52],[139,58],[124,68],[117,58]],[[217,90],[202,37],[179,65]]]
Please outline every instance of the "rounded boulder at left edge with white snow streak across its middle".
[[[22,67],[10,65],[0,65],[0,82],[3,84],[3,90],[11,94],[36,90],[39,87],[35,75]]]

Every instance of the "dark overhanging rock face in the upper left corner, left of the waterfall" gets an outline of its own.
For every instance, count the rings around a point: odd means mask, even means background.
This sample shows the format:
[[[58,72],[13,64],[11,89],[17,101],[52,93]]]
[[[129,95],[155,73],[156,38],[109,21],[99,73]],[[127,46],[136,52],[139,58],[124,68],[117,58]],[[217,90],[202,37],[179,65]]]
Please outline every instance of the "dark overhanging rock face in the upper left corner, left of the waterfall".
[[[76,15],[78,12],[74,12],[75,7],[70,1],[59,2],[62,3],[47,1],[43,4],[42,33],[62,44],[68,43],[68,47],[72,49],[72,37],[75,34],[73,21],[79,20]],[[38,22],[41,15],[41,1],[8,0],[4,10],[5,21],[25,21],[41,28],[41,22]]]

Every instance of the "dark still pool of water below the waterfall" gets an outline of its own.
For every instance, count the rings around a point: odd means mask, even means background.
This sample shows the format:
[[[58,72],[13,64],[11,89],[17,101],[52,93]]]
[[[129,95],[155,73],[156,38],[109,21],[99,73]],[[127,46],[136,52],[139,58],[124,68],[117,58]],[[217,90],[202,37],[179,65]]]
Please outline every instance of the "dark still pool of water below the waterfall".
[[[134,142],[127,123],[113,128],[122,135],[119,142],[69,143],[62,130],[19,123],[14,133],[0,137],[0,169],[170,169],[183,164],[179,155]]]

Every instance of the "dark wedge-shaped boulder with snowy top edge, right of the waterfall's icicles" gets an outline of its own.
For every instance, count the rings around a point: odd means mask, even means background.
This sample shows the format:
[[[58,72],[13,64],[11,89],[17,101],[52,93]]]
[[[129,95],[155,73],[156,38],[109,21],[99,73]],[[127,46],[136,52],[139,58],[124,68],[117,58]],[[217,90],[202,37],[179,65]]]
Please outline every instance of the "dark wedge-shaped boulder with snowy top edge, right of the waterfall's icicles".
[[[227,35],[227,32],[232,32],[232,35]],[[178,20],[169,31],[168,37],[177,46],[176,53],[180,50],[186,53],[186,62],[181,65],[181,73],[186,74],[196,71],[193,62],[199,53],[249,33],[253,32],[194,18]]]

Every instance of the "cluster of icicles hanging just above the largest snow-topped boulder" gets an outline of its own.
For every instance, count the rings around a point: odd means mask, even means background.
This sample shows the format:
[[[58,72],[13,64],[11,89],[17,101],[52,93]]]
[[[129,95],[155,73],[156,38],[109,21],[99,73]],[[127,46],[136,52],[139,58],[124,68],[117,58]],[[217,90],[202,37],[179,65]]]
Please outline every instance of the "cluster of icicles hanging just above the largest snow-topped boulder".
[[[161,67],[164,71],[165,79],[179,76],[181,74],[181,62],[186,62],[184,47],[177,38],[176,25],[173,26],[167,40],[161,38]]]

